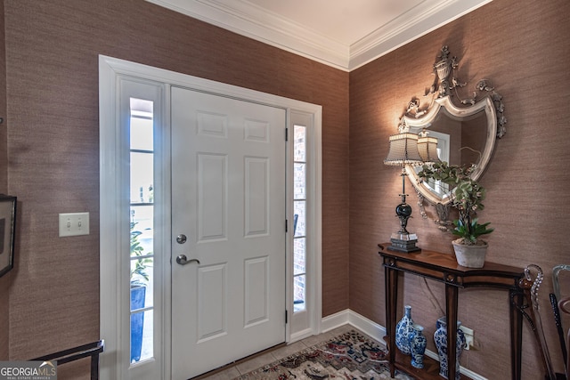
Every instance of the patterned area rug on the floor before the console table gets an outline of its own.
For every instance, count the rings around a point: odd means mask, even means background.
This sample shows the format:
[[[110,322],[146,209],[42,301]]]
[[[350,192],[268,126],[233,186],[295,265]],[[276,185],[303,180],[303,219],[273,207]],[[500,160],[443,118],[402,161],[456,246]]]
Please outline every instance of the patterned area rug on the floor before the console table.
[[[386,347],[352,330],[236,377],[236,380],[389,378]],[[413,380],[410,376],[398,372],[395,378]]]

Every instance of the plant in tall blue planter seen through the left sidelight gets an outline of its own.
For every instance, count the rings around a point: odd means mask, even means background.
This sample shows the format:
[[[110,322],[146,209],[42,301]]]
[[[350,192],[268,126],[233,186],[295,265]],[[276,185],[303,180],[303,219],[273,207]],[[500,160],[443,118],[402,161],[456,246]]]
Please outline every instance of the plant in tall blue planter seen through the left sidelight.
[[[139,230],[134,230],[135,222],[131,222],[131,257],[140,257],[131,263],[131,311],[144,308],[146,287],[149,282],[147,268],[152,265],[152,259],[145,257],[144,248],[139,241]],[[141,360],[142,327],[144,312],[131,314],[131,363]]]

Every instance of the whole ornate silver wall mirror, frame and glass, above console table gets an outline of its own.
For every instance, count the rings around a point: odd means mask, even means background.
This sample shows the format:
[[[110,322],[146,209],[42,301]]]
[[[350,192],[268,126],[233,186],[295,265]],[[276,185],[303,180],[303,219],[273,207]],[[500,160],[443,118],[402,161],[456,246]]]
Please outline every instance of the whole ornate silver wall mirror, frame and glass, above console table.
[[[472,177],[477,180],[492,158],[496,138],[505,133],[507,120],[503,116],[501,95],[489,80],[482,79],[468,99],[461,99],[460,88],[467,84],[455,77],[459,66],[457,58],[450,58],[447,46],[437,58],[436,80],[424,96],[428,99],[426,104],[412,98],[399,129],[437,139],[437,158],[450,165],[473,166]],[[411,183],[418,191],[421,214],[427,217],[423,208],[425,198],[436,205],[436,222],[445,230],[450,224],[447,221],[449,189],[443,183],[421,182],[417,175],[419,170],[418,166],[406,166]]]

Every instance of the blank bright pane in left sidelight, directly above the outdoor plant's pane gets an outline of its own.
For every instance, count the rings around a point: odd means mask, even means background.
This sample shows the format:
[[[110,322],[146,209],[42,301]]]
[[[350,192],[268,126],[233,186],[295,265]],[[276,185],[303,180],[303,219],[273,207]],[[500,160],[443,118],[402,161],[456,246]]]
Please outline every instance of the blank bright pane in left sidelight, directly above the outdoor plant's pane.
[[[152,203],[154,170],[151,153],[131,152],[131,203]]]

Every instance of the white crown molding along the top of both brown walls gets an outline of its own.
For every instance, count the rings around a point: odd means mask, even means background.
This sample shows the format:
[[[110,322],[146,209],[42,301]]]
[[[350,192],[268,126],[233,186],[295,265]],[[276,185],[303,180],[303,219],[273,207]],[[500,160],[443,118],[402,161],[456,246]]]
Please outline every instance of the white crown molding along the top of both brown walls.
[[[423,0],[351,45],[339,43],[247,1],[146,0],[241,36],[350,71],[493,0]]]

